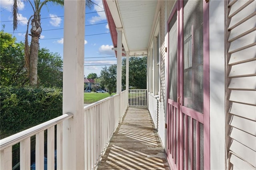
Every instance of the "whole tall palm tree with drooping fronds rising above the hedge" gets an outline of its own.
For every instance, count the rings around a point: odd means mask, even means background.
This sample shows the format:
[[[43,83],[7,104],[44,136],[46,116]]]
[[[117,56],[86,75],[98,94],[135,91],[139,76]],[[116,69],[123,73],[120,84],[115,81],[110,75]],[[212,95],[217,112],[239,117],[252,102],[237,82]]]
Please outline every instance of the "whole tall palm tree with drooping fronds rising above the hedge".
[[[12,15],[13,15],[13,30],[18,28],[18,6],[21,0],[13,0]],[[39,49],[39,38],[42,32],[41,28],[41,9],[48,3],[54,5],[64,5],[64,0],[25,0],[31,5],[34,14],[28,19],[27,31],[25,36],[25,67],[28,70],[30,86],[38,87],[38,76],[37,76],[37,62],[38,62],[38,49]],[[86,0],[86,6],[92,8],[95,3],[92,0]],[[31,21],[32,28],[30,29],[31,34],[28,34],[28,28]],[[28,45],[28,35],[30,35],[31,43]]]

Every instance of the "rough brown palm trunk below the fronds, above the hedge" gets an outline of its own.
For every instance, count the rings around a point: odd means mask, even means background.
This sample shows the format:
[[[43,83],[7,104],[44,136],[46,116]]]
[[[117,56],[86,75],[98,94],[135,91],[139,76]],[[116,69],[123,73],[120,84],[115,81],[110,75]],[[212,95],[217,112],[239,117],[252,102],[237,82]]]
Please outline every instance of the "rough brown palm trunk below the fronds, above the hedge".
[[[29,54],[29,81],[31,87],[38,87],[37,61],[38,61],[39,38],[32,36]]]

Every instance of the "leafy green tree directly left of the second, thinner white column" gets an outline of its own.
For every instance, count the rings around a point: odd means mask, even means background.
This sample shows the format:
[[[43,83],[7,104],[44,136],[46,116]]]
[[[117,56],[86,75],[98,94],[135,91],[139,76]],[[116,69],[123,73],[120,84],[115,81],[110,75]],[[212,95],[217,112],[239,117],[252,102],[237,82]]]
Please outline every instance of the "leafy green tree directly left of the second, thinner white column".
[[[106,87],[110,95],[116,91],[116,65],[102,68],[100,71],[100,85]]]

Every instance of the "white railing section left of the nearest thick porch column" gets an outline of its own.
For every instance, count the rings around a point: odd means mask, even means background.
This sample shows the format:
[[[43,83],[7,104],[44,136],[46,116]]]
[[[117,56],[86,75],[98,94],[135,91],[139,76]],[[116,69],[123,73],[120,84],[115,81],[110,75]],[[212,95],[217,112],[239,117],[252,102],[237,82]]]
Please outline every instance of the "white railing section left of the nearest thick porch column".
[[[54,169],[54,127],[57,125],[57,168],[62,169],[62,122],[73,116],[61,115],[50,121],[29,128],[0,140],[0,169],[12,169],[12,146],[20,143],[20,169],[30,169],[30,137],[36,135],[36,169],[44,169],[44,130],[47,130],[47,169]]]

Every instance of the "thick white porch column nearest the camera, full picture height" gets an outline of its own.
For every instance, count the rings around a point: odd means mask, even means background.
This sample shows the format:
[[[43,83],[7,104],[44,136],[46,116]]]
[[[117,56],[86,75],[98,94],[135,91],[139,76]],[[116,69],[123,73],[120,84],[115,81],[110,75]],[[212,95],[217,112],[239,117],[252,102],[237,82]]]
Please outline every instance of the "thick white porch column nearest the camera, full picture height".
[[[84,169],[85,1],[65,0],[63,55],[63,169]],[[58,152],[58,151],[57,151]]]

